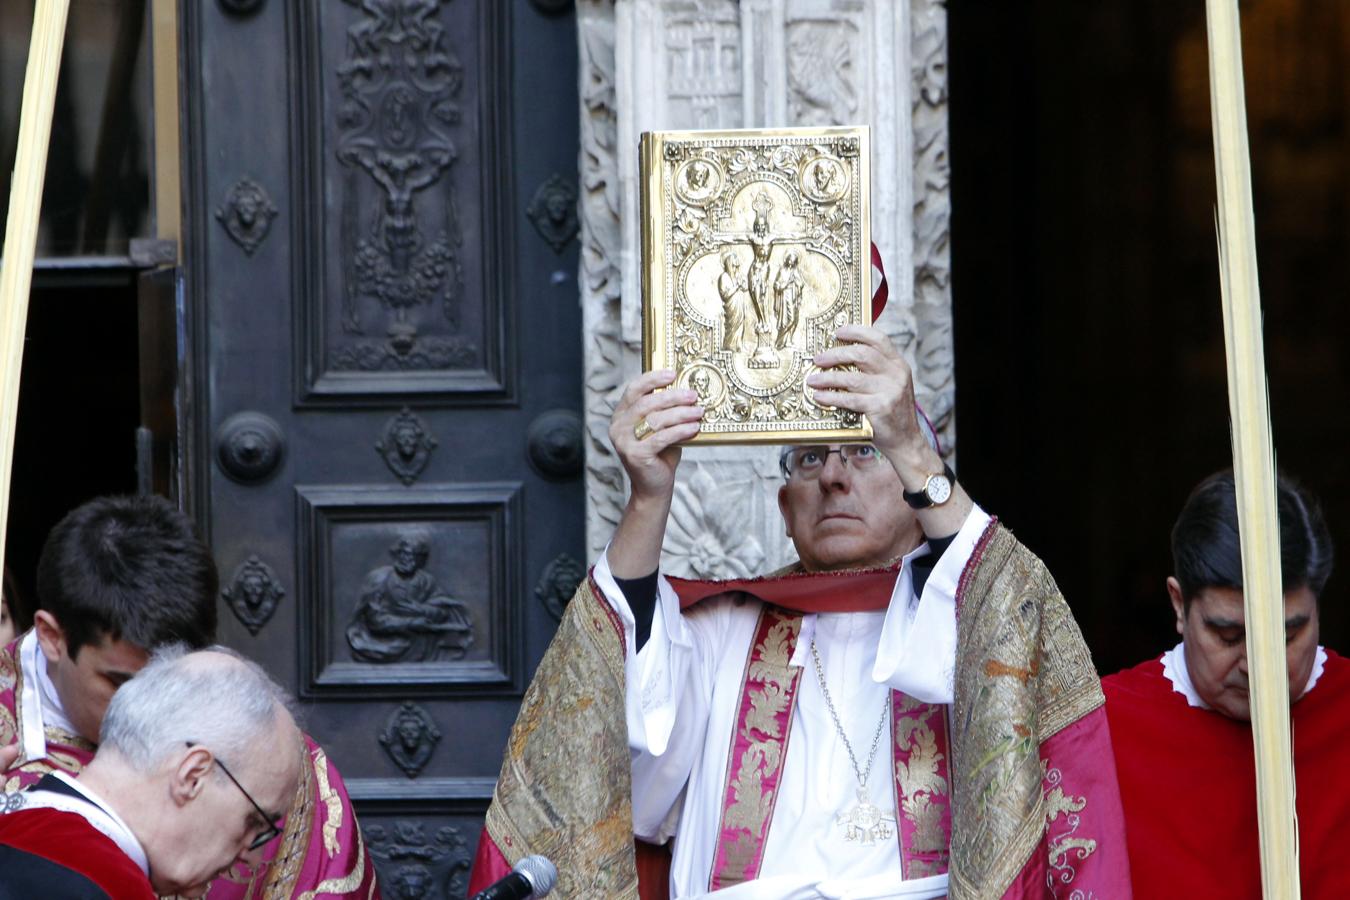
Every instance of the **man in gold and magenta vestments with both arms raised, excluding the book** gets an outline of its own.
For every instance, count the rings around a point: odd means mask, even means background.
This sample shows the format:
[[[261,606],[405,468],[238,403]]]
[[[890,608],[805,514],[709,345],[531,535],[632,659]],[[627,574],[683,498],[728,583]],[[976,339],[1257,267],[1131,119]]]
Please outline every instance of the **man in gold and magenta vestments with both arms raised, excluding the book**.
[[[639,896],[630,815],[672,851],[668,876],[639,851],[643,897],[1129,896],[1064,599],[942,461],[891,341],[837,337],[807,385],[873,441],[783,451],[799,561],[764,578],[660,575],[703,410],[671,371],[628,386],[628,505],[526,694],[475,884],[543,853],[566,896]]]

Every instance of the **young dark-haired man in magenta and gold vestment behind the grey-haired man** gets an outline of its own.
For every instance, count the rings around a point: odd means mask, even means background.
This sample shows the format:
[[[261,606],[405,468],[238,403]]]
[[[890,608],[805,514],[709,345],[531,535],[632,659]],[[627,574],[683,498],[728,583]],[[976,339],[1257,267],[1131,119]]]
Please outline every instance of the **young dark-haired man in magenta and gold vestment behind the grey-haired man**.
[[[53,528],[38,561],[34,627],[0,649],[0,789],[78,773],[93,758],[115,691],[167,644],[216,633],[217,575],[192,522],[163,498],[105,497]],[[336,766],[305,737],[285,830],[213,900],[308,891],[378,896],[375,869]]]

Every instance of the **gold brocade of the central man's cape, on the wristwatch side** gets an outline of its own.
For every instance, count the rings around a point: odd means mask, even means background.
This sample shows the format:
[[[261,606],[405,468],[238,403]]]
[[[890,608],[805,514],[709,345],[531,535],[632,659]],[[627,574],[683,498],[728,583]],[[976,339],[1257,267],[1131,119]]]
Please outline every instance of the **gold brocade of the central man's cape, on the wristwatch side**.
[[[1045,565],[991,522],[957,588],[956,698],[952,704],[949,896],[996,899],[1048,833],[1040,750],[1104,703],[1083,634]],[[1058,862],[1095,847],[1066,843]],[[1062,873],[1056,873],[1062,874]]]

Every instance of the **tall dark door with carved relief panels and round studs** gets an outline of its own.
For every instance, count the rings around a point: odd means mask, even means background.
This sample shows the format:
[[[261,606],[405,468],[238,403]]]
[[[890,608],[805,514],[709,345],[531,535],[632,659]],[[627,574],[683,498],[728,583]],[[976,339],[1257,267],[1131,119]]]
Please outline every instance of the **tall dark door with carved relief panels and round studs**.
[[[462,896],[582,576],[576,45],[543,0],[184,7],[188,499],[389,896]]]

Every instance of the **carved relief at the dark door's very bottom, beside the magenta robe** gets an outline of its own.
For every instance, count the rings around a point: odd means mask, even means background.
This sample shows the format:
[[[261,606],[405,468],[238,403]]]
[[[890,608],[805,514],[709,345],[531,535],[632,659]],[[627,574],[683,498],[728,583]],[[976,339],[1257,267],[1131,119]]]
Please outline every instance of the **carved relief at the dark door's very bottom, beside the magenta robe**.
[[[363,824],[379,882],[398,900],[463,897],[468,888],[468,842],[459,828],[443,826],[427,838],[421,822],[398,819],[392,827]],[[443,884],[444,889],[437,889]]]

